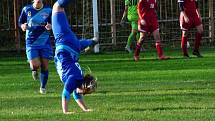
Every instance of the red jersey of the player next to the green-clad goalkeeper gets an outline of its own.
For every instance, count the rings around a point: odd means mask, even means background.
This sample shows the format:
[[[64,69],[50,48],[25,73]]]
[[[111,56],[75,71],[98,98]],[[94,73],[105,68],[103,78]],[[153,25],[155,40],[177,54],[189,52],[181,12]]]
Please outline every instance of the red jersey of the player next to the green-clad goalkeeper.
[[[138,14],[140,19],[145,17],[156,17],[157,0],[139,0]]]

